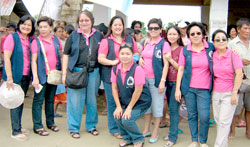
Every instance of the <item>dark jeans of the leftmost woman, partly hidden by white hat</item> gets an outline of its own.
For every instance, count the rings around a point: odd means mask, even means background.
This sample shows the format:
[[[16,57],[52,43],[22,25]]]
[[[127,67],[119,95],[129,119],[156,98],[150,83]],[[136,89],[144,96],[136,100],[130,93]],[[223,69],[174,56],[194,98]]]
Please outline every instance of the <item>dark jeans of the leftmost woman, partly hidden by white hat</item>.
[[[16,83],[20,85],[24,91],[24,95],[26,95],[28,89],[29,89],[29,82],[30,78],[29,76],[23,76],[22,80],[19,83]],[[22,131],[22,113],[23,113],[23,104],[20,105],[17,108],[10,109],[10,117],[11,117],[11,126],[12,126],[12,135],[21,134]]]

